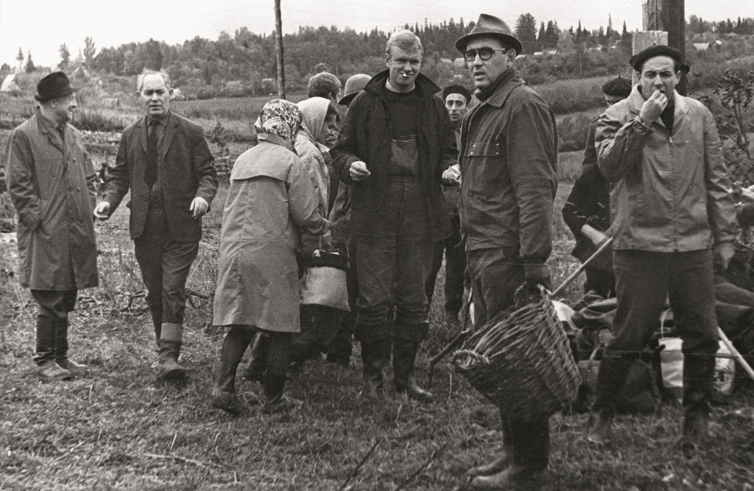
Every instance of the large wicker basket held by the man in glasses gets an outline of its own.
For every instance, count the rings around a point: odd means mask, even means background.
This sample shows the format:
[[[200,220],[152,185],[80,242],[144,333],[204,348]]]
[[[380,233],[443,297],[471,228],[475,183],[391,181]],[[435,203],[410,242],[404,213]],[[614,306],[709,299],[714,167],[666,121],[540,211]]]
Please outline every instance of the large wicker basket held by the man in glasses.
[[[453,354],[472,386],[518,419],[550,416],[575,400],[581,376],[550,296],[523,298]]]

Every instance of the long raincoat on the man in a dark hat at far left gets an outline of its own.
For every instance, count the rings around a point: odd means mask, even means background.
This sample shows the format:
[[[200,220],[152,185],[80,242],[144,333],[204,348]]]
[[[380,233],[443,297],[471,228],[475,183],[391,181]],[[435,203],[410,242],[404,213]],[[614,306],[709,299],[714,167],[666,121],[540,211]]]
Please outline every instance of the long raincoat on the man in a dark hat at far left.
[[[97,286],[97,175],[81,133],[66,124],[65,138],[37,111],[13,130],[5,154],[19,281],[34,290]]]

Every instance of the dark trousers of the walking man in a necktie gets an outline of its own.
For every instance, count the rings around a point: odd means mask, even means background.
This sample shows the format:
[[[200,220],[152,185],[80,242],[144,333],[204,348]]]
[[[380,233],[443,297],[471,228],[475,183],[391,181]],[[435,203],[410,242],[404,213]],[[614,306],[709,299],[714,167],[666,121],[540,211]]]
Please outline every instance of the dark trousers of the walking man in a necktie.
[[[133,243],[159,340],[163,323],[183,324],[186,279],[199,252],[199,242],[172,239],[163,209],[149,209],[144,233]]]

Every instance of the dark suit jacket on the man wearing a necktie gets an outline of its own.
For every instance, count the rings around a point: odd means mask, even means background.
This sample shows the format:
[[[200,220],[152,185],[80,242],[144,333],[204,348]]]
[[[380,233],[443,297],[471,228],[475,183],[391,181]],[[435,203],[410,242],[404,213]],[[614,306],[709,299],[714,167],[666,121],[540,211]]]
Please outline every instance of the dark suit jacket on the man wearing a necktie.
[[[171,112],[158,155],[158,175],[162,183],[165,215],[170,236],[181,242],[201,239],[201,219],[189,211],[192,200],[202,197],[210,206],[217,192],[214,157],[198,124]],[[146,116],[123,131],[115,168],[105,185],[104,200],[110,214],[128,190],[131,200],[130,234],[137,239],[144,231],[149,207],[149,188],[144,182],[146,169]]]

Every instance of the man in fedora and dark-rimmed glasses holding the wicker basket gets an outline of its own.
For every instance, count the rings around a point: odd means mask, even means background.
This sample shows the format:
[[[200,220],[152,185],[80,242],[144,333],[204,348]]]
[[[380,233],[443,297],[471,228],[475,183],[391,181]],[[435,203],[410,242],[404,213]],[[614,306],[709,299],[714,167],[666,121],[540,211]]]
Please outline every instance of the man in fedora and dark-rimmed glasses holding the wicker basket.
[[[483,325],[511,306],[524,282],[535,290],[549,285],[544,263],[552,249],[557,133],[553,112],[513,67],[523,47],[502,20],[480,15],[455,47],[480,100],[461,124],[458,162],[475,325]],[[445,178],[453,178],[450,170]],[[467,471],[474,488],[507,488],[547,475],[548,416],[501,412],[501,423],[501,455]]]

